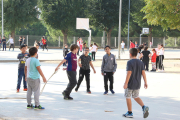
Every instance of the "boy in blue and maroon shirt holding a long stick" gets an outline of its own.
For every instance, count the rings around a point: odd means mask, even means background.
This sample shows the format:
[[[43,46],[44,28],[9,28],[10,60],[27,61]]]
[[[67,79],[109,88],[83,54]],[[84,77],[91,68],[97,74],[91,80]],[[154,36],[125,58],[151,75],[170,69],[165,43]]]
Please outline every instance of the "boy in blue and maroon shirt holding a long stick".
[[[65,100],[73,100],[72,97],[70,97],[72,89],[76,86],[77,80],[76,80],[76,69],[77,69],[77,52],[78,52],[79,47],[76,44],[71,45],[70,50],[71,52],[67,54],[67,56],[64,58],[64,60],[57,66],[55,71],[59,69],[59,67],[68,61],[68,66],[67,66],[67,76],[69,78],[69,84],[62,92],[64,95]]]

